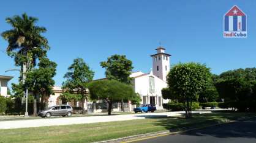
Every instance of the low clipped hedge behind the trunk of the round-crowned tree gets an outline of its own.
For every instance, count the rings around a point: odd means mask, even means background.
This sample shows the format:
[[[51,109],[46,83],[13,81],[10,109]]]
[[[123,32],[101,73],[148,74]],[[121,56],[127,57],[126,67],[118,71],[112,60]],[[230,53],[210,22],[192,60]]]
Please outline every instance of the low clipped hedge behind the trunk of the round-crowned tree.
[[[171,111],[184,111],[184,103],[164,103],[163,107]],[[200,108],[198,102],[192,102],[192,110]]]

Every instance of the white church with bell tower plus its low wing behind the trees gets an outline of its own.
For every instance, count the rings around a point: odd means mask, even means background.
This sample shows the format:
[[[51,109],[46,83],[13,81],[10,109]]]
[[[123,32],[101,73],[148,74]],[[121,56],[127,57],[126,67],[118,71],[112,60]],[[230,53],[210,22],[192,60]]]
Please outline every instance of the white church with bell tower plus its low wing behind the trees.
[[[170,56],[165,53],[163,47],[158,47],[156,49],[157,53],[151,55],[152,57],[152,69],[149,73],[145,74],[141,71],[132,72],[130,77],[132,77],[132,85],[135,92],[140,94],[141,104],[151,104],[156,106],[157,110],[162,110],[163,103],[167,103],[168,100],[162,98],[162,88],[167,87],[166,76],[170,71]],[[59,96],[62,93],[60,87],[54,87],[53,91],[55,94],[51,95],[48,99],[48,106],[54,106],[61,104],[62,101]],[[81,107],[81,102],[72,102],[74,107]],[[107,111],[107,103],[103,100],[98,100],[97,102],[84,102],[84,108],[88,113],[97,113]],[[113,111],[121,111],[121,103],[115,103]],[[135,105],[132,105],[130,101],[124,103],[125,111],[133,111]]]

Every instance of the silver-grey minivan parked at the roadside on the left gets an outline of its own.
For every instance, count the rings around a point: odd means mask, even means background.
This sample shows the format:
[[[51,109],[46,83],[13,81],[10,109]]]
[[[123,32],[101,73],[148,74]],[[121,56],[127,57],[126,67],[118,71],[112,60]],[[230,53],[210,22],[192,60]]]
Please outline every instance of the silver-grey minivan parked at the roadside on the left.
[[[51,116],[71,116],[73,113],[73,108],[70,105],[57,105],[51,106],[47,110],[39,111],[37,116],[40,117],[51,117]]]

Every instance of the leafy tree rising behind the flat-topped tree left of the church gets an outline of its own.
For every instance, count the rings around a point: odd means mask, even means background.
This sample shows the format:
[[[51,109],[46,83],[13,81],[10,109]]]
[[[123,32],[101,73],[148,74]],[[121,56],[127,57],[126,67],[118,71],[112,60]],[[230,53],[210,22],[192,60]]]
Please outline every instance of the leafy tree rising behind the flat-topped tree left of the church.
[[[132,61],[126,58],[126,55],[112,55],[107,61],[100,62],[100,66],[106,69],[105,75],[109,80],[117,80],[122,83],[130,84],[132,78]],[[122,111],[124,111],[124,103],[121,99]]]

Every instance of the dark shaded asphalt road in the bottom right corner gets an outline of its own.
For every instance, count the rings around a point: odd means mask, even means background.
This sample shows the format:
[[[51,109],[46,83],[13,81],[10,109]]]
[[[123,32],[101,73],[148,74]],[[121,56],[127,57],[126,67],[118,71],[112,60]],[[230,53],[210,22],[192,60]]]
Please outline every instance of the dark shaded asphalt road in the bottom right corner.
[[[163,142],[256,142],[256,119],[233,122],[230,124],[216,125],[200,130],[187,131],[186,133],[151,138],[137,143],[163,143]]]

